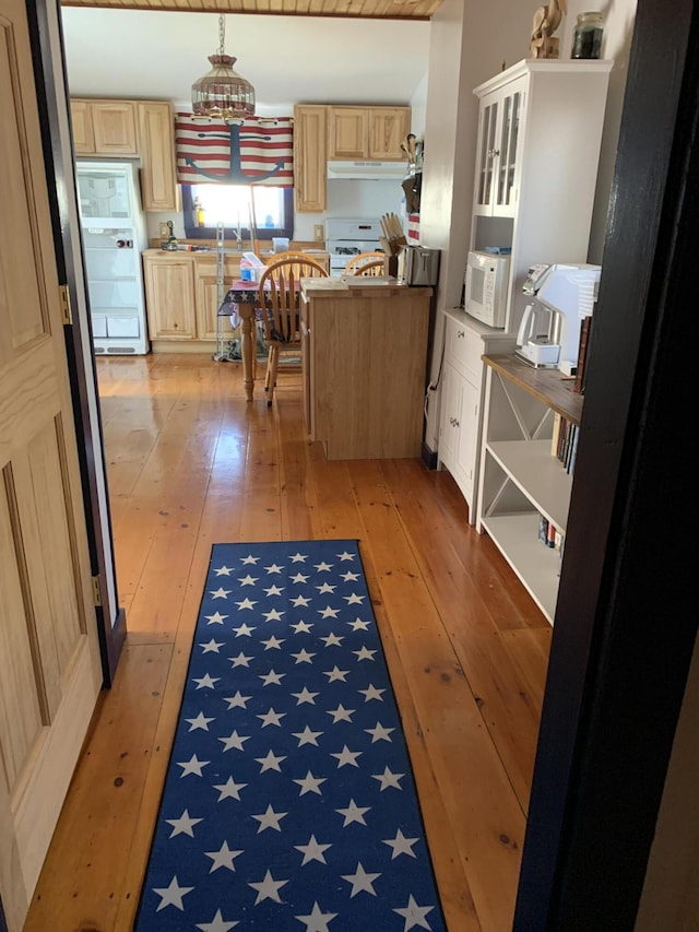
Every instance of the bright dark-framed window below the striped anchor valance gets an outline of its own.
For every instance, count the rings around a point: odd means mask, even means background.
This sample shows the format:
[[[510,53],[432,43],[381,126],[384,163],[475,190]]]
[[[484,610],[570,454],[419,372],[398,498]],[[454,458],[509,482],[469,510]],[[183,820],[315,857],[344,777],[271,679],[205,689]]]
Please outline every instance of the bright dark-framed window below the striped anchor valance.
[[[272,185],[182,185],[185,234],[189,239],[215,239],[216,224],[224,223],[226,239],[250,239],[251,198],[254,198],[254,236],[294,235],[294,189]],[[204,211],[205,226],[194,217],[194,199]]]

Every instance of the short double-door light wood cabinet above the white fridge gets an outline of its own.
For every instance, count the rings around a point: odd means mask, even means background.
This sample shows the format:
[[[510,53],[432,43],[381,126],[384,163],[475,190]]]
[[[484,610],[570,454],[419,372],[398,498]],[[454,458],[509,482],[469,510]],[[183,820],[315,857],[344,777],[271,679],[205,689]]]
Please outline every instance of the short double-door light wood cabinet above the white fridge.
[[[76,155],[137,155],[131,101],[71,101]]]

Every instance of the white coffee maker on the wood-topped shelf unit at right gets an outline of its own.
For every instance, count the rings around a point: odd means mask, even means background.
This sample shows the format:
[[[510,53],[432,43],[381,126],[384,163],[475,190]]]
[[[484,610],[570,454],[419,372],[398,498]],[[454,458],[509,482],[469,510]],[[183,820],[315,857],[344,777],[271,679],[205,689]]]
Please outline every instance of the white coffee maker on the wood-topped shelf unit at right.
[[[532,266],[522,291],[526,305],[517,355],[537,368],[570,374],[578,365],[580,327],[597,299],[601,266]]]

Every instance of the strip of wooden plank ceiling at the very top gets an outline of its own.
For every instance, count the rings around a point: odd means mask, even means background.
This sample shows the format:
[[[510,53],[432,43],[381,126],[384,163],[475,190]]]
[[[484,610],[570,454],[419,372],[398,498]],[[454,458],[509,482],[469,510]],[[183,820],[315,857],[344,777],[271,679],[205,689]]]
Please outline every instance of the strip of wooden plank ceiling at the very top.
[[[69,0],[66,7],[183,10],[343,19],[429,20],[442,0]]]

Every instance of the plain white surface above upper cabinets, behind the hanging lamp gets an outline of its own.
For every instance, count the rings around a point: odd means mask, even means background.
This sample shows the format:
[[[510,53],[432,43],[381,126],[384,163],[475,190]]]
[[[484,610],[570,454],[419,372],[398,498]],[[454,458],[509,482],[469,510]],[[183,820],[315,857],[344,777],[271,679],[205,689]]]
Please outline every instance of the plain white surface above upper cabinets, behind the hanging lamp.
[[[139,0],[141,2],[141,0]],[[152,0],[147,0],[153,5]],[[180,0],[177,0],[180,2]],[[194,7],[198,0],[189,0]],[[205,0],[211,7],[211,0]],[[439,0],[441,3],[441,0]],[[434,9],[434,0],[226,0],[295,7],[294,15],[227,14],[225,50],[256,90],[258,113],[295,103],[408,104],[427,73],[429,20],[372,19],[371,10]],[[68,82],[74,97],[169,99],[183,105],[218,49],[218,14],[63,4]],[[133,4],[135,5],[135,4]],[[303,9],[360,10],[311,16]],[[377,13],[378,15],[378,13]]]

